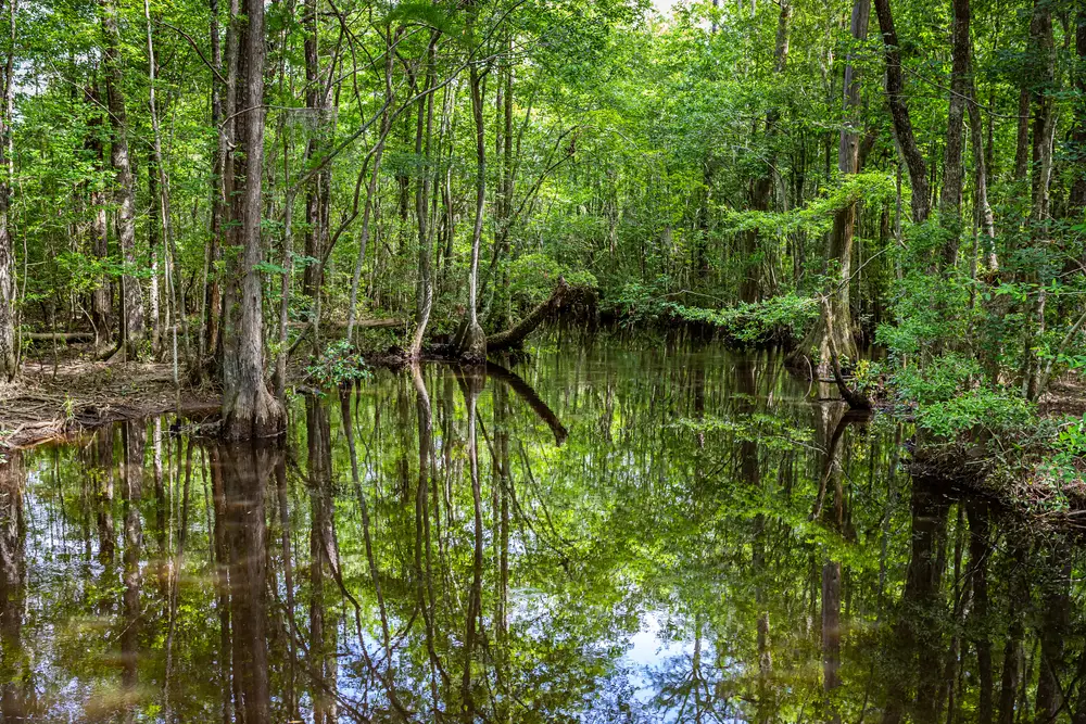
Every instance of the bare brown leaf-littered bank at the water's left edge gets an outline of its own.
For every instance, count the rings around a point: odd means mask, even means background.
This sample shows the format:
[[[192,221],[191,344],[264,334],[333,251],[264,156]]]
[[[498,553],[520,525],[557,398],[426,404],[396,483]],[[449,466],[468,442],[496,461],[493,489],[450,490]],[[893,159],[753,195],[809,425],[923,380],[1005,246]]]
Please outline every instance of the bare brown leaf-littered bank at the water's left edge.
[[[55,360],[26,360],[18,379],[0,386],[0,452],[166,411],[211,414],[219,405],[210,386],[184,377],[175,385],[171,364],[106,364],[70,347]]]

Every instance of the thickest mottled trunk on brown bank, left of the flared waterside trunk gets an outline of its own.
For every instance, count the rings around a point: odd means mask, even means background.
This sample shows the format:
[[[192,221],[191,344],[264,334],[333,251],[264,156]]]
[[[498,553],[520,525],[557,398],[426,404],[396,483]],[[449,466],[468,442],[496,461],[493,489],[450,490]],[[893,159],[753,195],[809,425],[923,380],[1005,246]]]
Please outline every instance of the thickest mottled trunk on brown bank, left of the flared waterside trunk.
[[[117,204],[117,243],[124,257],[125,272],[121,278],[122,322],[121,345],[117,354],[122,360],[139,359],[142,354],[146,326],[143,320],[143,291],[136,269],[136,188],[128,155],[128,115],[125,110],[124,71],[121,67],[121,30],[117,27],[117,9],[113,0],[100,0],[102,16],[102,65],[105,69],[106,106],[113,128],[110,157],[116,172],[115,199]]]

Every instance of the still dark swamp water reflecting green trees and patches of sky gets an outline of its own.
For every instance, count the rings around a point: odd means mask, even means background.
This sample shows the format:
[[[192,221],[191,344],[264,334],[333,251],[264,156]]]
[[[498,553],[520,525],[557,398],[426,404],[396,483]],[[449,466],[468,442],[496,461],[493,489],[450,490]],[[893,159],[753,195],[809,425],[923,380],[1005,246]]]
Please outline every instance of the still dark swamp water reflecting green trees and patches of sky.
[[[1082,552],[769,356],[378,371],[0,467],[3,721],[1052,721]]]

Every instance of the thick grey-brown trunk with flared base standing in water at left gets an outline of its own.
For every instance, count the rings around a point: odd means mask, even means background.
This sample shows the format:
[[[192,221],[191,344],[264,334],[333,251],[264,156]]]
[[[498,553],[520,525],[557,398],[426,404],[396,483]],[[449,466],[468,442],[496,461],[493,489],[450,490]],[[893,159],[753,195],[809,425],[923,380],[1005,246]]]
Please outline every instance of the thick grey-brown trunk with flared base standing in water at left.
[[[242,20],[243,17],[243,20]],[[227,269],[223,329],[223,435],[230,440],[282,432],[286,412],[264,380],[264,312],[261,304],[261,173],[264,163],[264,3],[243,0],[238,34],[238,132],[232,157],[229,239],[239,253]],[[228,41],[229,42],[229,41]]]

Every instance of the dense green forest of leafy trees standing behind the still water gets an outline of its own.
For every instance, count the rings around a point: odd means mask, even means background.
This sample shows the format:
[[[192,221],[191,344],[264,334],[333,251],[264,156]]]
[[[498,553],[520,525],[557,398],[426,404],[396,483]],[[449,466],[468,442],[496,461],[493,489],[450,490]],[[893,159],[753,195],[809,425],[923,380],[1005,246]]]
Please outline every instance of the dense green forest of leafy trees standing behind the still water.
[[[218,380],[260,435],[292,352],[478,360],[563,289],[815,376],[876,342],[967,419],[1086,359],[1077,2],[3,10],[9,379],[90,334]]]

